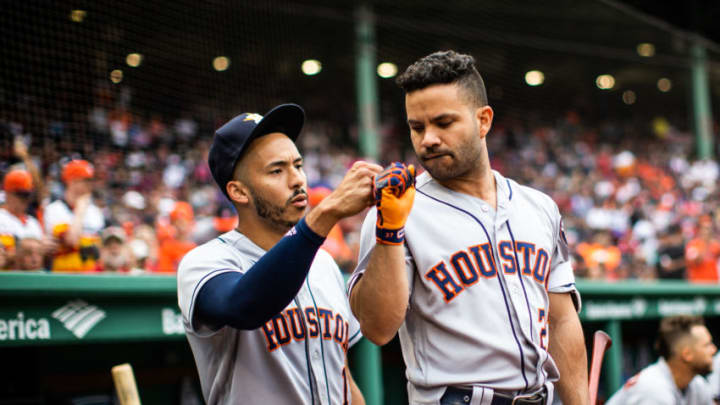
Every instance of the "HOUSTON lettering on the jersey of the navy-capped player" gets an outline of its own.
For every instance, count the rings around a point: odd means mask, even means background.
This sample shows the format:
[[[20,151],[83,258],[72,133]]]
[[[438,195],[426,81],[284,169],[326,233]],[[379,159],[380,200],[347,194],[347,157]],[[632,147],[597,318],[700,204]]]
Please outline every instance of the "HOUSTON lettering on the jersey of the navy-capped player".
[[[309,334],[310,338],[334,340],[341,345],[344,351],[348,349],[348,329],[350,324],[340,313],[331,309],[318,307],[305,307],[305,321],[303,322],[301,310],[297,307],[288,308],[263,325],[268,351],[273,351],[291,341],[301,342]]]

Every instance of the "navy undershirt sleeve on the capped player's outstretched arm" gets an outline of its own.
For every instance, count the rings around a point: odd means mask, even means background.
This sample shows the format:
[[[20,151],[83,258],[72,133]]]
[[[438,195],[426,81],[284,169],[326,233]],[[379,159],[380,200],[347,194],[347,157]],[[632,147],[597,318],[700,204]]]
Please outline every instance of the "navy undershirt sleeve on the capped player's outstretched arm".
[[[195,301],[195,321],[217,330],[225,325],[256,329],[282,311],[297,295],[325,240],[305,219],[245,274],[219,274],[205,283]]]

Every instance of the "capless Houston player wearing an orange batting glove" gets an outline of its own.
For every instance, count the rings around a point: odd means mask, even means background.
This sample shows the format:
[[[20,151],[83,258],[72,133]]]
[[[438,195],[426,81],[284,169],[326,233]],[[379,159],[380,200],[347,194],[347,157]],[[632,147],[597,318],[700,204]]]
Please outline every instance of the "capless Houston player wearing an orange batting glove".
[[[588,403],[567,242],[547,195],[490,167],[493,110],[474,59],[428,55],[398,77],[425,173],[377,176],[350,304],[363,335],[399,332],[411,404]]]

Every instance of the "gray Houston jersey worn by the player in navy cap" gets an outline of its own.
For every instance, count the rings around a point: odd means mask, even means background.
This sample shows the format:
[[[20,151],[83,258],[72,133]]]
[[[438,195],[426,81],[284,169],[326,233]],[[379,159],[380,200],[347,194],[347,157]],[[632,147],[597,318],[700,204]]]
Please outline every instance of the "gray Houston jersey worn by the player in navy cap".
[[[349,404],[345,355],[360,339],[360,328],[340,269],[322,249],[294,301],[262,327],[211,330],[191,324],[193,303],[207,280],[245,272],[265,253],[233,230],[193,249],[180,263],[178,304],[205,401]]]

